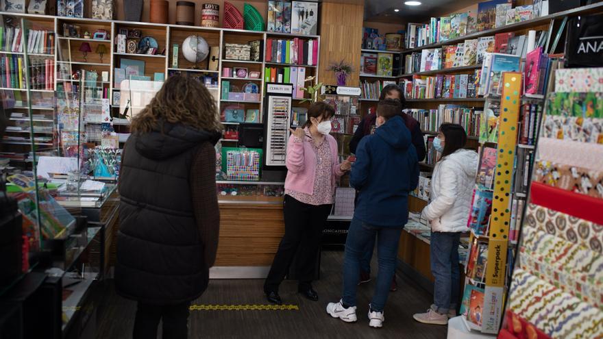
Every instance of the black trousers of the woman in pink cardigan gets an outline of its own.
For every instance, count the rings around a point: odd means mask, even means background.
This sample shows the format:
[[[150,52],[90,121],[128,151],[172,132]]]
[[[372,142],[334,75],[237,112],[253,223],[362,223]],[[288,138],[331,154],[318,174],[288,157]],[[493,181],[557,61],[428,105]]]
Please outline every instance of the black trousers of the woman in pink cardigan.
[[[278,286],[285,278],[298,248],[295,275],[299,280],[299,289],[312,287],[317,253],[331,206],[309,205],[285,195],[285,234],[264,282],[264,292],[278,292]]]

